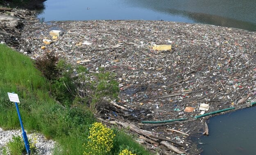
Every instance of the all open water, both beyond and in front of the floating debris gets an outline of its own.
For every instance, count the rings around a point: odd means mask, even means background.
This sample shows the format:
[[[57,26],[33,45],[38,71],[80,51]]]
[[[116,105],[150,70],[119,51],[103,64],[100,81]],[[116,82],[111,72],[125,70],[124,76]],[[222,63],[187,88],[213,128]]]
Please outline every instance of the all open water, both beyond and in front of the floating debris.
[[[168,20],[256,31],[256,0],[47,0],[49,20]],[[256,108],[209,119],[202,155],[254,155]]]

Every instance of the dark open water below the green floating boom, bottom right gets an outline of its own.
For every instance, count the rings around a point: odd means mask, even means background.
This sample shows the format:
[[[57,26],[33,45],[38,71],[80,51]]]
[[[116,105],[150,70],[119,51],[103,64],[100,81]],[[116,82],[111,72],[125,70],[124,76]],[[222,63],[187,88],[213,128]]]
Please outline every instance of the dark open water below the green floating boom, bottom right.
[[[209,119],[209,136],[199,138],[201,155],[255,155],[256,107]]]

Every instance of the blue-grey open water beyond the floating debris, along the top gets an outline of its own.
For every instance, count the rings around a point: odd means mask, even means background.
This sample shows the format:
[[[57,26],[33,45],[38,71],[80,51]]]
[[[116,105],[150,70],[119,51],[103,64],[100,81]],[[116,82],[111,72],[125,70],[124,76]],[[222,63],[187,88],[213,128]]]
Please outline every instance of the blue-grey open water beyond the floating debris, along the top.
[[[168,20],[256,31],[255,0],[47,0],[45,20]]]

